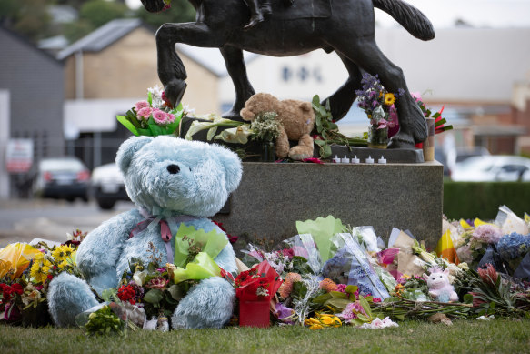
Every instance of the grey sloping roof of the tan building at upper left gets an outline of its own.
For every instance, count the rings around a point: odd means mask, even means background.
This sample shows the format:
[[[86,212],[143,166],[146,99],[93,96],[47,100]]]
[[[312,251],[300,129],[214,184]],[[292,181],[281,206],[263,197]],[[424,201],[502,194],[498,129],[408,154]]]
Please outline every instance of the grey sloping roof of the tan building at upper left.
[[[105,25],[97,28],[94,32],[85,35],[71,46],[67,46],[60,51],[57,59],[63,60],[78,51],[99,52],[141,25],[143,23],[139,18],[120,18],[109,21]]]

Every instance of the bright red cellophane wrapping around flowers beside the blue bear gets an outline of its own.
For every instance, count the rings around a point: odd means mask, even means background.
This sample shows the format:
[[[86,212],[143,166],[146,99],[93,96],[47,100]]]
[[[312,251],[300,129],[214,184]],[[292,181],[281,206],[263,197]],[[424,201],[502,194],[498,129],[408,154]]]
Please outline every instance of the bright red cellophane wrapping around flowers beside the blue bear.
[[[254,268],[243,271],[235,278],[235,294],[239,301],[266,301],[275,296],[282,279],[264,260]]]

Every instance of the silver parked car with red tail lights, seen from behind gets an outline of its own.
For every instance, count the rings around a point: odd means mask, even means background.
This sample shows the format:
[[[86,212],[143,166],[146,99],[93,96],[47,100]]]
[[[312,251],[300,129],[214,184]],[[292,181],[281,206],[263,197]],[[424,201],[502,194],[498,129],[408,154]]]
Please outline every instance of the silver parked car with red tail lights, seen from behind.
[[[32,192],[36,197],[88,201],[90,171],[76,157],[46,157],[29,173]]]

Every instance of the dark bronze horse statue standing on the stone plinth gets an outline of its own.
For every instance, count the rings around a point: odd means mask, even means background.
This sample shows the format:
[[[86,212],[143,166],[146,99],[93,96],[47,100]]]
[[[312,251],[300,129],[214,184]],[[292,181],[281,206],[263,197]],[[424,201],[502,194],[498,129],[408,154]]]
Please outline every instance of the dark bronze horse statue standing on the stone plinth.
[[[161,11],[164,0],[141,0],[150,12]],[[241,120],[239,111],[255,94],[248,81],[243,50],[267,56],[296,56],[322,48],[335,53],[348,71],[348,79],[329,96],[335,120],[345,116],[361,88],[363,71],[378,75],[389,92],[405,90],[396,102],[400,130],[390,147],[414,147],[427,136],[425,117],[410,96],[402,70],[375,43],[374,7],[379,8],[422,40],[434,38],[431,22],[402,0],[265,0],[272,14],[244,30],[250,13],[244,0],[188,0],[195,22],[165,24],[156,32],[158,76],[165,95],[176,105],[185,91],[185,67],[175,43],[217,47],[235,86],[235,103],[223,116]],[[325,100],[324,100],[325,101]]]

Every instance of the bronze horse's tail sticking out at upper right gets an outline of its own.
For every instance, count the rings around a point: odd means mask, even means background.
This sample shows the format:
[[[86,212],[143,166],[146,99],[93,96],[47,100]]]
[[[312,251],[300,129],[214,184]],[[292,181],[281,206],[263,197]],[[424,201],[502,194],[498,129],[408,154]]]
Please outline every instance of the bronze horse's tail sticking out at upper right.
[[[403,25],[411,35],[428,41],[435,37],[435,29],[431,21],[413,5],[402,0],[372,0],[374,7],[394,17],[399,25]]]

